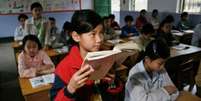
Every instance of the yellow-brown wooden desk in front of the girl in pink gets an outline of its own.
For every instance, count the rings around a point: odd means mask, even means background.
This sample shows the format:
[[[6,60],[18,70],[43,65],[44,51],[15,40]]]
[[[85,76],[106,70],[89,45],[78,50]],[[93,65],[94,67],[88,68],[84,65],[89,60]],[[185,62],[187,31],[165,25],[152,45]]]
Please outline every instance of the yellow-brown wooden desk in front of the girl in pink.
[[[51,84],[32,88],[29,79],[25,78],[19,78],[19,84],[25,101],[50,101]]]

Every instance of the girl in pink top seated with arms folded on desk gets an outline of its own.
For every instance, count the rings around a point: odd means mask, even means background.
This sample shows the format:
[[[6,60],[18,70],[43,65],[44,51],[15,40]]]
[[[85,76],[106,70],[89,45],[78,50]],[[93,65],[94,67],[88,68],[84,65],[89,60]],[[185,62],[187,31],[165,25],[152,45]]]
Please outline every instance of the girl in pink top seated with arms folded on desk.
[[[21,78],[31,78],[54,71],[54,64],[41,50],[40,41],[35,35],[25,36],[22,46],[23,51],[18,56],[18,72]]]

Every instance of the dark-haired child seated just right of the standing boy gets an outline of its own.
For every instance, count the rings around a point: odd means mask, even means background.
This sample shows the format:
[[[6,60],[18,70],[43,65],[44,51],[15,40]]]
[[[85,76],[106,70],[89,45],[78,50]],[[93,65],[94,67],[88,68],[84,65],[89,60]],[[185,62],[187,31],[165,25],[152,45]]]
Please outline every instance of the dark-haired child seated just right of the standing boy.
[[[56,20],[53,17],[49,17],[48,26],[50,28],[49,33],[47,34],[47,45],[48,48],[56,48],[62,46],[59,44],[60,40],[60,32],[59,29],[56,27]]]

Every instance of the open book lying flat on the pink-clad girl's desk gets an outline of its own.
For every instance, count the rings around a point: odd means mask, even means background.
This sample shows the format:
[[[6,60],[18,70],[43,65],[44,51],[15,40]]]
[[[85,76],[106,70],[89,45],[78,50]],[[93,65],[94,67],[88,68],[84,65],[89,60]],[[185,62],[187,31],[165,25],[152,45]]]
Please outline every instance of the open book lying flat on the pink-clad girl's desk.
[[[41,85],[47,85],[49,83],[53,83],[54,77],[55,77],[55,75],[52,73],[52,74],[46,74],[46,75],[30,78],[29,81],[31,83],[31,86],[33,88],[36,88]]]

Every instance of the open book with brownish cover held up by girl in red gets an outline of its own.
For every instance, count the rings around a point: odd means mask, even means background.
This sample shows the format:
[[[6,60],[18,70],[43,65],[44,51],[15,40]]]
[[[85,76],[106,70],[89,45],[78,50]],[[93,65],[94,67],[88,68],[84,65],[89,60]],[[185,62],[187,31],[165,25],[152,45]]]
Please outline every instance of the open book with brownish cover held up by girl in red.
[[[118,65],[122,64],[128,56],[135,54],[135,50],[138,50],[135,43],[122,43],[116,45],[113,50],[88,52],[83,64],[90,64],[94,69],[94,72],[90,74],[89,79],[102,79],[114,63]]]

